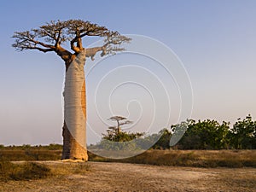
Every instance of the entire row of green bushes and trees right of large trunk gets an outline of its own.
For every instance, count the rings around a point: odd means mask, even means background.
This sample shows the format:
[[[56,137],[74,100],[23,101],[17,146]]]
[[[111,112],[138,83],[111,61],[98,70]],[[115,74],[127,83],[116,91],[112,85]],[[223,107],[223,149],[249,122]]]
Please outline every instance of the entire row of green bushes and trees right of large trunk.
[[[232,127],[225,121],[219,124],[210,119],[197,122],[188,119],[148,136],[141,132],[108,130],[100,143],[89,148],[125,150],[148,149],[148,146],[154,149],[255,149],[256,121],[250,114],[245,119],[237,119]]]

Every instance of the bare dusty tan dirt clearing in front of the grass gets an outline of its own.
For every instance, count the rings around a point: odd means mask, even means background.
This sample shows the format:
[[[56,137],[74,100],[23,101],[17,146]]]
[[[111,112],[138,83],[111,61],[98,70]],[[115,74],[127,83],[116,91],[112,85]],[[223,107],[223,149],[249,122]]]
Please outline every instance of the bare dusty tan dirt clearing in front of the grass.
[[[90,171],[83,174],[0,183],[0,191],[256,191],[255,168],[89,163]],[[56,167],[65,162],[46,164]]]

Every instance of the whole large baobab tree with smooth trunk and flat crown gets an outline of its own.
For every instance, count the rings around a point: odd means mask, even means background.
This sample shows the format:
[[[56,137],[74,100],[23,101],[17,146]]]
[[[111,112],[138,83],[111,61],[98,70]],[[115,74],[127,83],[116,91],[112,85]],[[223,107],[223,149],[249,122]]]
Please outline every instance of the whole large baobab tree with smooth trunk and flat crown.
[[[90,36],[103,38],[102,46],[84,48],[82,39]],[[124,50],[120,45],[128,43],[131,38],[84,20],[50,21],[30,31],[15,32],[13,38],[13,47],[16,50],[36,49],[44,53],[55,52],[65,62],[62,159],[88,160],[84,79],[86,57],[94,60],[98,52],[104,56]],[[64,43],[69,43],[70,48],[66,48],[67,45]]]

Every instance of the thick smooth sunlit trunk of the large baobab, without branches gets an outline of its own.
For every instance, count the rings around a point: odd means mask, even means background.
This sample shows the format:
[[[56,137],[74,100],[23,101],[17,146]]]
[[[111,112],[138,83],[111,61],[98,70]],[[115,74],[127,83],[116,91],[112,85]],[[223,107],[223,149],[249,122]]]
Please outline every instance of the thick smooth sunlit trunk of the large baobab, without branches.
[[[80,51],[66,70],[62,159],[88,160],[85,127],[85,55],[85,49]]]

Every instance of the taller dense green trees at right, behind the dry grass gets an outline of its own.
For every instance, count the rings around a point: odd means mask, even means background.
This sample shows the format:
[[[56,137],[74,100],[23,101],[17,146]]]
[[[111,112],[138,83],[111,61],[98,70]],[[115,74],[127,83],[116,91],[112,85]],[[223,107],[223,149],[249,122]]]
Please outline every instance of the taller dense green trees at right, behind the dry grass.
[[[180,130],[179,130],[180,129]],[[183,130],[186,129],[186,130]],[[178,132],[185,131],[183,137],[170,147],[171,137]],[[230,127],[229,122],[221,124],[216,120],[190,119],[179,125],[172,125],[171,130],[160,131],[162,136],[154,144],[153,148],[177,148],[177,149],[255,149],[256,148],[256,121],[251,115],[245,119],[237,119]]]

